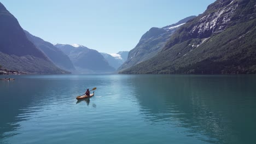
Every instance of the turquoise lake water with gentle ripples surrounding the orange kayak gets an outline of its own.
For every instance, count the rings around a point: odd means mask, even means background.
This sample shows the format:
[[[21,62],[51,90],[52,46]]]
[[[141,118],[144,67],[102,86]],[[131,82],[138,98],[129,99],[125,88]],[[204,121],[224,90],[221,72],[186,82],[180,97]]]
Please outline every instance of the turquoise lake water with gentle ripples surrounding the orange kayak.
[[[0,143],[256,143],[256,75],[11,77]]]

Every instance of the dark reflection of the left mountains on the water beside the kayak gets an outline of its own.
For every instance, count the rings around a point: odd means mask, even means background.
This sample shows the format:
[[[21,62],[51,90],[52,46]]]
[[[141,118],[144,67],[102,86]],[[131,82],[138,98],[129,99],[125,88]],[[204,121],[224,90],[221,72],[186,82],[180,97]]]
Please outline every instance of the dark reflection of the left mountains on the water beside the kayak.
[[[73,101],[86,87],[83,81],[70,76],[66,79],[51,75],[13,77],[15,81],[11,83],[0,81],[0,143],[1,140],[19,134],[15,131],[19,130],[20,122],[38,118],[36,113],[43,109],[53,109]],[[56,87],[58,85],[62,87]],[[89,105],[89,101],[86,103]]]

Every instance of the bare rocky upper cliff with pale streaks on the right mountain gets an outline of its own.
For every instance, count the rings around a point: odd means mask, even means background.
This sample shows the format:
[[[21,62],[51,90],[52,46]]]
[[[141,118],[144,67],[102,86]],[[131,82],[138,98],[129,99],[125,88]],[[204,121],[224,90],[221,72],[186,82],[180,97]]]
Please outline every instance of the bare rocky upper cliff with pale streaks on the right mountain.
[[[249,0],[222,0],[212,3],[203,14],[178,29],[174,37],[165,45],[164,50],[188,39],[209,38],[238,22],[253,19],[255,17],[253,3],[255,2]]]

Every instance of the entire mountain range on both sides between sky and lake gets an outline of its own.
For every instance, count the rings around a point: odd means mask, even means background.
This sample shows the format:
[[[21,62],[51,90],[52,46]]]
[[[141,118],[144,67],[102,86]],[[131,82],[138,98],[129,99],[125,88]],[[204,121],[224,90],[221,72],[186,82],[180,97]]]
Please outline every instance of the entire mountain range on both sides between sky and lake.
[[[34,36],[0,3],[0,65],[28,74],[255,74],[255,17],[253,0],[217,0],[150,28],[129,52],[103,53]]]

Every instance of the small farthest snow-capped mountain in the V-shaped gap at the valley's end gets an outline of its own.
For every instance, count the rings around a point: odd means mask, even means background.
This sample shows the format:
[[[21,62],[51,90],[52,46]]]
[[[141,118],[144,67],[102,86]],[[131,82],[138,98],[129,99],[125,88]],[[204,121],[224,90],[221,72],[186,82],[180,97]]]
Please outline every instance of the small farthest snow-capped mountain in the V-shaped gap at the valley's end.
[[[103,53],[101,55],[108,61],[109,65],[115,69],[118,69],[126,60],[129,51],[120,51],[118,53]]]

